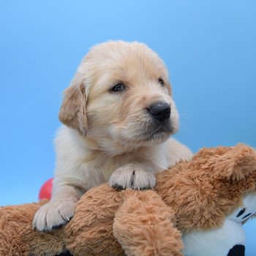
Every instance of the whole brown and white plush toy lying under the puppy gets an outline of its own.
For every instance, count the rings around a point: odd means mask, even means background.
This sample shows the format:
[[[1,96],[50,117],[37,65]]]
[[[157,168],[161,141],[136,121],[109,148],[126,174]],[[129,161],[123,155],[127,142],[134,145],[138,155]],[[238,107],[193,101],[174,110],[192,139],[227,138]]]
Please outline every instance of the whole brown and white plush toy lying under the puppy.
[[[241,223],[255,216],[255,198],[253,148],[203,148],[158,173],[154,190],[90,189],[51,233],[31,225],[46,201],[0,208],[0,255],[240,256]]]

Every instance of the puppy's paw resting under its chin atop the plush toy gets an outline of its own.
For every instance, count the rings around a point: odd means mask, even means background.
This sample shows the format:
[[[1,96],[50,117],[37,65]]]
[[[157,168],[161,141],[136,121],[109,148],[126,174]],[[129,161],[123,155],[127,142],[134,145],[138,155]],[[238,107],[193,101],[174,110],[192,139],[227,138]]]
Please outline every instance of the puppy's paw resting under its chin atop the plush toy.
[[[110,177],[110,187],[118,189],[151,189],[156,185],[153,173],[147,173],[135,164],[127,164],[116,169]]]

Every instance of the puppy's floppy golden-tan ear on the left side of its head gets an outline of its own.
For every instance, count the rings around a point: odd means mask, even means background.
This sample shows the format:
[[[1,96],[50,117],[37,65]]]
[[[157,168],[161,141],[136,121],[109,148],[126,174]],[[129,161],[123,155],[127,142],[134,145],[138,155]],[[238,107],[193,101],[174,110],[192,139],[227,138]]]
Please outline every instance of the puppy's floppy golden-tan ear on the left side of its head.
[[[72,83],[64,91],[64,100],[59,111],[59,121],[80,135],[86,135],[86,87],[83,83]]]

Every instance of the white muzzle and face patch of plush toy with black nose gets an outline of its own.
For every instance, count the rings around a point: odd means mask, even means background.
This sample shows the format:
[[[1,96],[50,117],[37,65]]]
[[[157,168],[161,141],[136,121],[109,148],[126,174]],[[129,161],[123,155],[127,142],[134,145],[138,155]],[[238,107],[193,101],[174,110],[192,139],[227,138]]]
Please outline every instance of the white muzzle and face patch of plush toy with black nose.
[[[246,234],[243,224],[255,214],[256,194],[252,193],[244,197],[243,205],[227,216],[221,227],[184,234],[184,255],[244,256]]]

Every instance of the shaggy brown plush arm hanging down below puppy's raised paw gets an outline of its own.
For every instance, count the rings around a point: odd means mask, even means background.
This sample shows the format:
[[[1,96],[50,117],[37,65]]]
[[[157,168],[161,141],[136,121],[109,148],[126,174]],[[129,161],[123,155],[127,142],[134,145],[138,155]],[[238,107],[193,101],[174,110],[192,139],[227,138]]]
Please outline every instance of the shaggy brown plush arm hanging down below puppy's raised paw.
[[[126,255],[181,256],[181,233],[174,227],[174,212],[152,190],[127,190],[118,209],[113,233]]]

